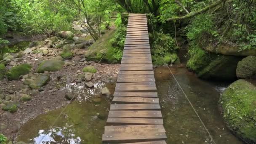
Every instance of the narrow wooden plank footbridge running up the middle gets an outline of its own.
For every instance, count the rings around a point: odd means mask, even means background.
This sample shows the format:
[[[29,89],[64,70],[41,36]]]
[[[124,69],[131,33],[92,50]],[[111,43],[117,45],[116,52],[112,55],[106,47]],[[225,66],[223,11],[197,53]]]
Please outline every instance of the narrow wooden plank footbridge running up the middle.
[[[104,144],[166,144],[146,14],[129,14],[125,48]]]

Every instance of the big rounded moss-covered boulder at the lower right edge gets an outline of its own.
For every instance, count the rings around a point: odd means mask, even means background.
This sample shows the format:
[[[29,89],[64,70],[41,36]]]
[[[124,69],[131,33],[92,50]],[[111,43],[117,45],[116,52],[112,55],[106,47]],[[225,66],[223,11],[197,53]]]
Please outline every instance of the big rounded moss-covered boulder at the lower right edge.
[[[248,144],[256,143],[256,87],[237,80],[222,94],[220,104],[229,129]]]

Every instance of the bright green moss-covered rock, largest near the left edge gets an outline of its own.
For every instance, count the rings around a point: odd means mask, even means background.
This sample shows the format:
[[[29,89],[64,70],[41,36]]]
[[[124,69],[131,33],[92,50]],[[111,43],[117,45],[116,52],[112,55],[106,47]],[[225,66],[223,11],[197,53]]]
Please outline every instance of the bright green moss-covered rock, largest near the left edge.
[[[16,67],[11,68],[7,72],[8,80],[19,80],[19,77],[21,75],[27,75],[30,72],[31,68],[32,66],[30,64],[20,64]]]

